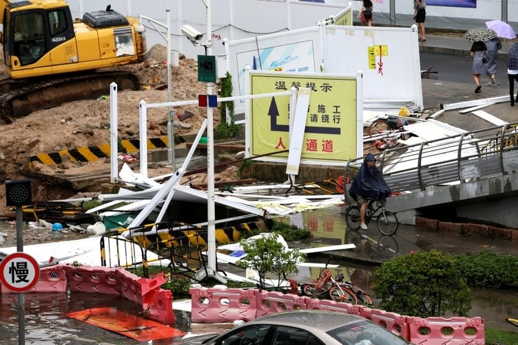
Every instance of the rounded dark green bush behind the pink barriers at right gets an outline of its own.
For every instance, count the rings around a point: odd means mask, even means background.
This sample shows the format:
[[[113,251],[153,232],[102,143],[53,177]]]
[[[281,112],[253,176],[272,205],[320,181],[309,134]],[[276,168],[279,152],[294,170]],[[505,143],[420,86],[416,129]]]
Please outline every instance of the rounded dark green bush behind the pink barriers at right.
[[[437,250],[398,256],[374,272],[380,308],[402,315],[467,316],[471,293],[452,256]]]

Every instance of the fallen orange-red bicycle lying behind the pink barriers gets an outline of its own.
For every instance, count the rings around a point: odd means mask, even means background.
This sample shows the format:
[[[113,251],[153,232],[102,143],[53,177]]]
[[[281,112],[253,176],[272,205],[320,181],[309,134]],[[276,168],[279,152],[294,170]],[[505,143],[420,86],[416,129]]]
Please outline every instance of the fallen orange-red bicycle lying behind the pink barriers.
[[[322,298],[329,293],[329,297],[335,302],[358,304],[358,298],[355,293],[347,289],[344,285],[338,284],[338,282],[333,279],[333,275],[327,267],[320,273],[320,276],[318,276],[316,280],[304,284],[302,291],[304,291],[307,296],[313,298]]]

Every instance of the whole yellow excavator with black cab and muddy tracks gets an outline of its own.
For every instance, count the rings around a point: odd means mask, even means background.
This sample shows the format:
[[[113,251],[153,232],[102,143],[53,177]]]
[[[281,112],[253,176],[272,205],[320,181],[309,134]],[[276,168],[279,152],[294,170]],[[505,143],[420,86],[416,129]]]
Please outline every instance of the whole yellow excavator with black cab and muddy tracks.
[[[63,0],[0,0],[0,38],[6,73],[0,75],[0,118],[13,118],[63,102],[118,89],[139,89],[130,71],[145,60],[145,29],[111,9],[72,19]]]

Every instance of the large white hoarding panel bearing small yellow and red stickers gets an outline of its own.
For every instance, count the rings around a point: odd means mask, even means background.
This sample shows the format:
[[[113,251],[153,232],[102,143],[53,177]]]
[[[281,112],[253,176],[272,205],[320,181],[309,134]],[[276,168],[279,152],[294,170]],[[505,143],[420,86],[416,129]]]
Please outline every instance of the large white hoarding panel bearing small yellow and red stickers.
[[[422,109],[421,67],[416,27],[324,27],[324,71],[363,72],[364,107],[373,102],[411,102]],[[406,105],[406,104],[405,104]],[[417,109],[415,109],[417,110]]]

